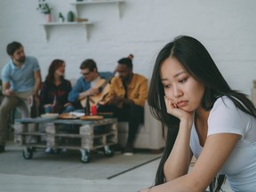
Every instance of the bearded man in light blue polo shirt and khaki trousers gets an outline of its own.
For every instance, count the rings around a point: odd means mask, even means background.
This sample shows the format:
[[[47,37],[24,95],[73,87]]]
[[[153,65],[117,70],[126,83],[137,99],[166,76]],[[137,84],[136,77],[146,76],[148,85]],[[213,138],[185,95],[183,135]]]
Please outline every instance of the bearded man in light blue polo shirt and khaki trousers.
[[[25,55],[22,44],[12,42],[7,45],[11,59],[2,69],[4,100],[0,106],[0,153],[4,152],[8,128],[8,114],[20,107],[22,117],[28,117],[28,97],[39,102],[38,91],[41,84],[41,73],[35,57]]]

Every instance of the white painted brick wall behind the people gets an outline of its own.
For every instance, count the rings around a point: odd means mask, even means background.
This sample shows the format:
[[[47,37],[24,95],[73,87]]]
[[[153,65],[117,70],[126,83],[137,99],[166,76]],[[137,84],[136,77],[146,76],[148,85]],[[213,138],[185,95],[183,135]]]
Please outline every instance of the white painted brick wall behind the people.
[[[62,12],[75,11],[76,0],[48,0],[55,21]],[[79,8],[81,17],[94,25],[89,41],[84,27],[59,26],[44,36],[44,15],[36,0],[0,1],[0,68],[9,57],[6,44],[20,41],[28,55],[36,56],[45,76],[53,59],[67,62],[66,76],[79,76],[80,63],[94,59],[100,70],[112,71],[116,60],[134,54],[134,72],[150,77],[157,52],[174,36],[200,40],[211,52],[223,76],[235,89],[251,93],[256,78],[255,0],[125,0],[118,17],[116,4]]]

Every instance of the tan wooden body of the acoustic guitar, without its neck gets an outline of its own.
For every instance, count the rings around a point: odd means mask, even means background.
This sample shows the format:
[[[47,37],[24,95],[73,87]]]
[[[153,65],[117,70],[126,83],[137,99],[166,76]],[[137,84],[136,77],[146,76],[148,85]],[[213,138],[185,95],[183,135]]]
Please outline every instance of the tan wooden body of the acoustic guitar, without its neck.
[[[100,88],[100,86],[102,84],[105,84],[106,81],[107,81],[106,79],[101,78],[97,82],[95,87]],[[91,106],[98,105],[100,100],[103,100],[105,98],[105,96],[108,94],[109,90],[110,90],[110,84],[106,84],[99,94],[97,94],[97,95],[90,95],[90,105]],[[85,107],[85,103],[86,103],[86,99],[81,100],[81,105],[83,106],[83,108]]]

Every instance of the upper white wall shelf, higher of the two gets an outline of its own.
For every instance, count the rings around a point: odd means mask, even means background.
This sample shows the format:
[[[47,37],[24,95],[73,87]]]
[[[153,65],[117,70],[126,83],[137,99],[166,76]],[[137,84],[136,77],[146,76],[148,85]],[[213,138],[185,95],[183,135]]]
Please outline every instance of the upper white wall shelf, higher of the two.
[[[75,3],[71,3],[72,5],[75,5],[76,7],[76,13],[78,16],[78,12],[77,12],[77,7],[79,5],[88,5],[88,4],[117,4],[117,8],[118,8],[118,15],[119,18],[121,19],[122,14],[121,14],[121,3],[124,3],[124,0],[84,0],[82,2],[75,2]]]

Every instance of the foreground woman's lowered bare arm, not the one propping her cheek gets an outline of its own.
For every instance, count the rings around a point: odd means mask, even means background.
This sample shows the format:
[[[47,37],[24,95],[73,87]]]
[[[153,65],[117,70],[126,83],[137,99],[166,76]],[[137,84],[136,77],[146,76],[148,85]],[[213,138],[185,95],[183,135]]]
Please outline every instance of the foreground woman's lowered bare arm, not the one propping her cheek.
[[[143,192],[204,191],[225,164],[241,136],[234,133],[218,133],[207,137],[204,149],[192,171]],[[141,192],[142,192],[141,191]]]

